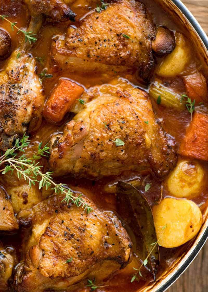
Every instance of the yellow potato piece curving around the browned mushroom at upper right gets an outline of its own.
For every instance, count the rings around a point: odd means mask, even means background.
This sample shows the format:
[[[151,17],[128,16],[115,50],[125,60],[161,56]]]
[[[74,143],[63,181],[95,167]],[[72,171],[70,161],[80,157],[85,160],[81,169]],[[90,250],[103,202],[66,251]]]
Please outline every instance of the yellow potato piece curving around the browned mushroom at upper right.
[[[159,65],[156,73],[163,77],[174,77],[184,71],[190,60],[190,49],[183,34],[176,33],[176,47],[174,51],[166,56]]]

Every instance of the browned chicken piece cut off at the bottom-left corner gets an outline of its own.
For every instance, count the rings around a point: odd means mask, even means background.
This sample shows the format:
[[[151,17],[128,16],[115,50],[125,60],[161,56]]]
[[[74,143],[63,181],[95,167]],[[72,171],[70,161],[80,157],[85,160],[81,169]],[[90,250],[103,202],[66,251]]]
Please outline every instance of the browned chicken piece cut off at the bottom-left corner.
[[[0,291],[10,291],[8,280],[12,276],[13,266],[17,263],[17,256],[13,247],[0,245]]]

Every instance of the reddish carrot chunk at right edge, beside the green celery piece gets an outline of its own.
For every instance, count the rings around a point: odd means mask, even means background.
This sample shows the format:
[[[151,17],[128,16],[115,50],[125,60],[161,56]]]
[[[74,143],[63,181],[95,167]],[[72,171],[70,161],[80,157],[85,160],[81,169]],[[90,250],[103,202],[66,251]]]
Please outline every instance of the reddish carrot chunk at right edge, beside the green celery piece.
[[[194,99],[196,104],[207,101],[207,82],[201,73],[198,72],[184,76],[184,83],[186,87],[186,94],[191,98],[192,102]]]

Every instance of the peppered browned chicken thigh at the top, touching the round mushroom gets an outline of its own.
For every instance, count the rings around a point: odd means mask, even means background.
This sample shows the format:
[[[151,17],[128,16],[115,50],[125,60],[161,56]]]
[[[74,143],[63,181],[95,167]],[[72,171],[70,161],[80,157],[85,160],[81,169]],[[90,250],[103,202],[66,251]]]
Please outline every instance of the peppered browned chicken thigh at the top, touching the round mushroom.
[[[125,71],[139,68],[148,80],[154,66],[151,39],[154,26],[140,1],[110,1],[106,10],[93,11],[77,29],[52,44],[52,61],[62,69],[81,72]],[[130,38],[128,38],[131,36]]]

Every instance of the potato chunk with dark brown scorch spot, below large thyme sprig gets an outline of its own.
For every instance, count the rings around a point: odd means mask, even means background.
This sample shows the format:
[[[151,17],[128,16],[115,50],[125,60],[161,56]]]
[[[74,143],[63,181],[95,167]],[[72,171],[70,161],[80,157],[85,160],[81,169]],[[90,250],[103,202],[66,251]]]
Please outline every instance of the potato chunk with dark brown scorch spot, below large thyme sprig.
[[[29,209],[39,203],[42,198],[37,186],[28,184],[18,187],[7,187],[7,192],[11,196],[11,202],[15,213],[22,209]]]

